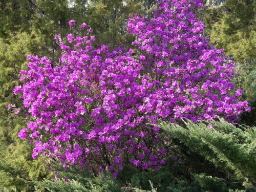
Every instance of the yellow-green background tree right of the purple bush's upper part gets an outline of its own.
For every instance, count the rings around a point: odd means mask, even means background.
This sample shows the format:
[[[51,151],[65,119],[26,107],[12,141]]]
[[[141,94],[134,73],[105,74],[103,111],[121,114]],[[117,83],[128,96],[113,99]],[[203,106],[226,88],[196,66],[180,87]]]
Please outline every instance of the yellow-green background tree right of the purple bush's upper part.
[[[204,14],[206,32],[212,44],[224,48],[225,54],[234,59],[236,77],[233,80],[244,90],[244,99],[252,106],[250,113],[241,116],[242,123],[256,125],[256,2],[207,2]]]

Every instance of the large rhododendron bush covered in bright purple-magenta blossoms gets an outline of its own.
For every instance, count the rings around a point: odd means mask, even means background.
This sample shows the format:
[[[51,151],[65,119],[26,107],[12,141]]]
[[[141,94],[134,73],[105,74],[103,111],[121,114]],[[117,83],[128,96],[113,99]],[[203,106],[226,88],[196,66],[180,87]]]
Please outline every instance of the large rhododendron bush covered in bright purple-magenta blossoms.
[[[127,24],[136,35],[129,50],[93,46],[92,29],[83,23],[87,36],[55,36],[58,63],[29,55],[14,93],[28,112],[18,135],[34,144],[32,157],[48,155],[95,173],[109,169],[114,176],[126,163],[158,169],[169,150],[152,125],[158,120],[220,116],[234,122],[248,111],[230,81],[232,62],[202,35],[200,7],[199,0],[161,0],[154,18],[134,15]]]

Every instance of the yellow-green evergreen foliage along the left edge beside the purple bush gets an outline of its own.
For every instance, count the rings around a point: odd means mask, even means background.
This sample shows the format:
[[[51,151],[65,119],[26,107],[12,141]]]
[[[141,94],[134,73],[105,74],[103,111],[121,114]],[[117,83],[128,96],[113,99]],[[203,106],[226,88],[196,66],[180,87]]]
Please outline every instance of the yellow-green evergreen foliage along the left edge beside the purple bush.
[[[32,148],[27,142],[17,138],[18,130],[24,125],[24,116],[16,117],[13,112],[19,109],[19,99],[13,96],[12,89],[17,85],[18,71],[24,68],[26,55],[40,48],[41,37],[22,32],[8,39],[0,39],[0,188],[16,187],[29,189],[28,181],[47,177],[47,164],[38,159],[32,161]],[[42,50],[40,50],[42,51]],[[9,109],[13,103],[16,108]]]

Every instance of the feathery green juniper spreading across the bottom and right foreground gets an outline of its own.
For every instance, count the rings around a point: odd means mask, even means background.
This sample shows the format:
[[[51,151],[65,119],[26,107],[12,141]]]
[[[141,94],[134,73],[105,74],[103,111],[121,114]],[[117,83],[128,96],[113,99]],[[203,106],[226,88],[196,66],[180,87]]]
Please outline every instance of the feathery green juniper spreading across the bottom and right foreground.
[[[211,126],[214,129],[210,128]],[[36,191],[203,192],[253,191],[256,170],[256,129],[236,127],[224,120],[161,123],[172,135],[173,155],[159,170],[124,166],[117,179],[110,172],[93,176],[88,169],[63,169],[52,164],[57,179],[31,182]],[[177,161],[178,159],[181,159]],[[243,185],[243,186],[242,186]]]

